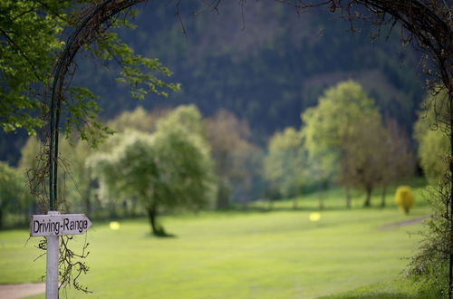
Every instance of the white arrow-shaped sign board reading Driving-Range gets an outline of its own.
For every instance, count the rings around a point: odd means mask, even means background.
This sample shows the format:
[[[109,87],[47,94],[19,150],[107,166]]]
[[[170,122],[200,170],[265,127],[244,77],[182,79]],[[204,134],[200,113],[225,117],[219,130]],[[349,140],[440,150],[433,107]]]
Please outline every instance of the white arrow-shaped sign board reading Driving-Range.
[[[82,235],[92,226],[83,214],[33,215],[30,236]]]

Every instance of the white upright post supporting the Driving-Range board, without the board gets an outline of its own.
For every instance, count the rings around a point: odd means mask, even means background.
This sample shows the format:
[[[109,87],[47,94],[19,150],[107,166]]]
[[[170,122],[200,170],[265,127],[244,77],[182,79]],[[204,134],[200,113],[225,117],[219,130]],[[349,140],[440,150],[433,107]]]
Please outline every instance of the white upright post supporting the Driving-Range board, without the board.
[[[57,216],[60,212],[49,211],[48,215]],[[58,299],[58,236],[47,238],[47,265],[45,271],[45,299]]]

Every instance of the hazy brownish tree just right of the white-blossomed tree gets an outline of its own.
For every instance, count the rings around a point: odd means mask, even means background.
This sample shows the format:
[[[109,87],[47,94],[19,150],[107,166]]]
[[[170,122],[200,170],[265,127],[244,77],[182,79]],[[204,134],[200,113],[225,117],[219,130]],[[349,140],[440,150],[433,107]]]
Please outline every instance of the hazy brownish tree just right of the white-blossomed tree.
[[[225,208],[231,198],[252,195],[251,188],[261,169],[261,149],[249,141],[250,129],[226,110],[204,121],[218,178],[217,208]]]

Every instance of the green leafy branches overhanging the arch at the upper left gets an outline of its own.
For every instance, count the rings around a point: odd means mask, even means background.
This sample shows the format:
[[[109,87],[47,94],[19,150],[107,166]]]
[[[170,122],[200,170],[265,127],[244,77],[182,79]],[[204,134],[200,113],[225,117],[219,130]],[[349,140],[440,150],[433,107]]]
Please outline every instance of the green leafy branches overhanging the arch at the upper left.
[[[63,76],[58,78],[60,84],[55,85],[61,86],[61,93],[56,95],[62,103],[61,109],[58,104],[62,114],[60,131],[68,138],[72,138],[72,133],[77,132],[79,138],[89,140],[93,146],[111,134],[111,130],[97,119],[101,111],[96,101],[98,97],[90,88],[72,86],[72,76],[77,65],[72,63],[72,56],[62,60],[70,52],[63,53],[65,45],[75,49],[71,55],[82,49],[105,65],[111,61],[118,63],[118,80],[130,86],[132,98],[143,99],[149,92],[167,97],[169,91],[179,89],[178,83],[165,81],[171,72],[158,59],[134,53],[128,44],[121,42],[117,33],[108,31],[111,27],[117,30],[133,28],[128,22],[128,18],[134,15],[131,10],[122,13],[120,17],[115,15],[111,20],[102,20],[101,23],[111,23],[101,27],[101,30],[96,29],[96,26],[83,27],[83,30],[92,31],[85,34],[85,37],[90,38],[77,40],[72,44],[76,39],[72,36],[66,43],[63,42],[69,34],[81,32],[80,26],[88,24],[83,20],[91,17],[92,8],[96,5],[98,2],[92,0],[2,2],[0,122],[5,132],[24,128],[29,135],[35,135],[36,130],[47,130],[43,125],[51,115],[51,86],[55,80],[53,75],[63,70],[64,74],[58,73],[58,76]],[[56,67],[63,61],[69,64],[62,68]]]

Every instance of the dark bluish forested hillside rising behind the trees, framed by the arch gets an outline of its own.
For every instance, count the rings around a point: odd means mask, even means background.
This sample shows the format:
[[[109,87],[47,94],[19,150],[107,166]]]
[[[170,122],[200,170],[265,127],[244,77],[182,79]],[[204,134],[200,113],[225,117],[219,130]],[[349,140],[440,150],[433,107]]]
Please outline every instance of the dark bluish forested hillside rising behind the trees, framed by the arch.
[[[181,91],[168,99],[132,100],[115,82],[117,66],[93,63],[83,54],[73,82],[100,96],[105,120],[139,104],[153,109],[195,103],[205,116],[220,108],[233,111],[264,145],[275,130],[299,127],[301,112],[326,87],[354,79],[383,115],[410,130],[424,95],[419,53],[401,46],[399,28],[371,41],[371,28],[354,24],[361,33],[353,34],[340,17],[322,9],[297,14],[274,1],[250,1],[244,8],[223,1],[218,11],[199,1],[149,2],[140,6],[138,27],[120,35],[137,53],[168,66],[174,73],[168,80],[180,82]],[[15,164],[24,136],[0,138],[0,159]]]

